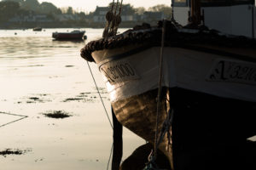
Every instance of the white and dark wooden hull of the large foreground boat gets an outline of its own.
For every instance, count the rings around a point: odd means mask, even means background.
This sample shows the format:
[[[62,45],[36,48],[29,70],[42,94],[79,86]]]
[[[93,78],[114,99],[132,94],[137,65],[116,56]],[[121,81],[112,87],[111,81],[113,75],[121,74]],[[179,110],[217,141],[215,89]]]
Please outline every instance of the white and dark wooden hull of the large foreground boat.
[[[174,154],[195,145],[239,143],[256,133],[256,62],[253,55],[164,48],[160,124],[172,108]],[[129,45],[92,53],[113,111],[122,125],[154,144],[160,47]],[[165,137],[160,150],[166,150]],[[178,156],[177,156],[178,157]]]

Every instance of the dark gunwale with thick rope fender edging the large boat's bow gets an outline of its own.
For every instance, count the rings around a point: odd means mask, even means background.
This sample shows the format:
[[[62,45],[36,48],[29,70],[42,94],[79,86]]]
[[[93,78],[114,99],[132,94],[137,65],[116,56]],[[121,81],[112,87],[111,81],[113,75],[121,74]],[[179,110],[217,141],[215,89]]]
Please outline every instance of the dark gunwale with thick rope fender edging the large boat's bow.
[[[225,51],[221,48],[251,48],[256,49],[256,40],[248,37],[223,35],[214,30],[196,30],[196,29],[178,29],[172,23],[169,23],[168,31],[165,41],[166,47],[173,48],[189,48],[207,53],[215,53],[222,55],[234,56],[238,59],[245,59],[256,62],[253,56],[247,54],[236,54]],[[192,32],[191,32],[192,31]],[[80,50],[82,58],[95,62],[92,53],[104,49],[121,48],[131,44],[143,44],[147,42],[147,48],[160,47],[160,27],[152,27],[151,29],[143,29],[140,31],[128,30],[122,34],[108,39],[100,39],[87,43],[84,48]],[[200,47],[201,45],[214,46],[219,49]],[[144,49],[144,48],[143,48]],[[138,50],[139,51],[139,50]],[[126,55],[126,54],[124,54]]]

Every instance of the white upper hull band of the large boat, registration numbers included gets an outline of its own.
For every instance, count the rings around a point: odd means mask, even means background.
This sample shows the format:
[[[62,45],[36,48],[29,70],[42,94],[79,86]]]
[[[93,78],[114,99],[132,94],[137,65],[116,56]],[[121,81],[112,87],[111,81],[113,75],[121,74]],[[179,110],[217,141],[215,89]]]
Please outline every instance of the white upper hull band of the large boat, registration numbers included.
[[[158,88],[159,56],[160,48],[148,48],[122,59],[108,59],[98,64],[111,101]],[[216,72],[222,71],[218,65],[220,61],[224,61],[226,66],[234,66],[230,72],[225,70],[227,68],[223,70],[224,76],[233,75],[228,81],[221,80]],[[241,71],[248,69],[243,80],[235,77],[240,74],[237,72],[239,66]],[[165,48],[163,72],[162,86],[167,88],[185,88],[224,98],[256,102],[256,65],[252,62],[183,48]],[[210,77],[213,73],[217,77],[215,80]]]

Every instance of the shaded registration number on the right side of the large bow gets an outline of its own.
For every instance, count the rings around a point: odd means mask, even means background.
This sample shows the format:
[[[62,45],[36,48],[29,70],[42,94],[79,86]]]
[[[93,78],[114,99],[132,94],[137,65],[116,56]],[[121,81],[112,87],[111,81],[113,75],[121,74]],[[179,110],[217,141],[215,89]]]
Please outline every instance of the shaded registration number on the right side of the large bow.
[[[207,76],[208,81],[241,82],[256,85],[256,65],[228,59],[218,59]]]

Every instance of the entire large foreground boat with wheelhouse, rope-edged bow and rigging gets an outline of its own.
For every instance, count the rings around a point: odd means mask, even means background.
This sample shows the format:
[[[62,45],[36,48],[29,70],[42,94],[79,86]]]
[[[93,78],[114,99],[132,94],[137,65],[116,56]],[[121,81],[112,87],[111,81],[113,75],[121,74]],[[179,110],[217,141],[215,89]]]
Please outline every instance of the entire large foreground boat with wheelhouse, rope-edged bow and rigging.
[[[81,56],[102,73],[117,120],[162,151],[172,169],[252,169],[236,149],[256,134],[255,2],[172,6],[172,20],[118,35],[120,15],[108,12],[103,37]]]

